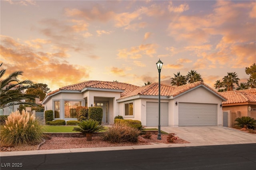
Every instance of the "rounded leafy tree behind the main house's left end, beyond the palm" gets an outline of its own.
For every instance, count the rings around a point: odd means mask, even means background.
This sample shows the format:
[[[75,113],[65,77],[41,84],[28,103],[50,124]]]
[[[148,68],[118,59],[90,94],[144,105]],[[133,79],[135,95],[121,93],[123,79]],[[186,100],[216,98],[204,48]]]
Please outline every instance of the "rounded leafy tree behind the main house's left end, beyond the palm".
[[[40,101],[42,101],[46,96],[46,93],[49,93],[49,91],[50,89],[48,88],[47,84],[36,83],[33,85],[33,87],[27,89],[26,94],[38,95]]]

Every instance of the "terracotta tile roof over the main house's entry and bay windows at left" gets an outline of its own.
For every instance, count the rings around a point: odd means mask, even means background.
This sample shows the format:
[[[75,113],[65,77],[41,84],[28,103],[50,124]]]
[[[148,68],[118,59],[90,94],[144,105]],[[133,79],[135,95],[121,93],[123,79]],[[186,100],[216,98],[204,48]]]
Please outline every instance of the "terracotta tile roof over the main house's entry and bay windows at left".
[[[137,89],[139,86],[128,84],[128,83],[119,83],[119,82],[113,82],[113,81],[85,81],[82,83],[77,83],[74,85],[68,85],[61,87],[60,89],[57,89],[55,91],[52,91],[51,93],[48,93],[47,95],[52,95],[58,91],[61,90],[76,90],[76,91],[82,91],[82,89],[91,87],[91,88],[99,88],[99,89],[117,89],[117,90],[124,90],[124,92],[121,93],[121,97],[126,95],[126,93],[133,91],[134,89]]]

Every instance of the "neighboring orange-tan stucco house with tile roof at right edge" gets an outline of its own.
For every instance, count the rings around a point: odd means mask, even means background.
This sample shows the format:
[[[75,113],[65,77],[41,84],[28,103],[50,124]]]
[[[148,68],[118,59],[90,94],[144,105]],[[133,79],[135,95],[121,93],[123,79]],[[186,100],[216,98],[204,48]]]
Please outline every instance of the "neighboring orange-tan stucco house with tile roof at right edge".
[[[256,89],[220,92],[227,101],[222,103],[223,126],[234,126],[237,117],[249,116],[256,119]]]

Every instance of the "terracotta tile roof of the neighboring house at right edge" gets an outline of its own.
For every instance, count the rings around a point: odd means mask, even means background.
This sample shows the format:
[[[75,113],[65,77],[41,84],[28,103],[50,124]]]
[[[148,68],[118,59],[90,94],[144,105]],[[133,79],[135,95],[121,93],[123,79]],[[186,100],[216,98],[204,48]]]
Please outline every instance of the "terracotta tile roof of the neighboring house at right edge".
[[[248,90],[254,91],[254,90]],[[230,104],[230,103],[248,103],[248,102],[256,102],[256,95],[248,92],[246,90],[234,90],[234,91],[225,91],[220,92],[226,99],[223,104]]]

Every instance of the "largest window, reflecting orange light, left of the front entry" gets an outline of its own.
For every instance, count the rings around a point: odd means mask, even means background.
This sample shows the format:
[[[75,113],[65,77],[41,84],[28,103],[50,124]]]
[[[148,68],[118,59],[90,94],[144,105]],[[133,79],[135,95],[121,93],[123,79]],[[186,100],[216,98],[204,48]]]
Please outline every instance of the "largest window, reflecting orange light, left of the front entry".
[[[78,106],[82,106],[82,101],[64,101],[65,118],[76,118]]]

